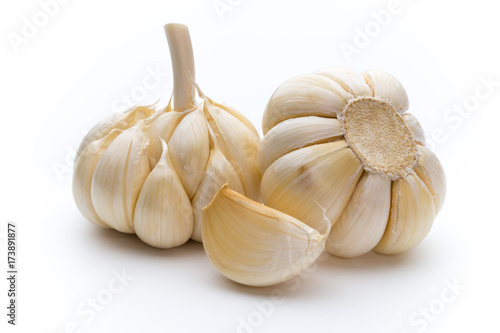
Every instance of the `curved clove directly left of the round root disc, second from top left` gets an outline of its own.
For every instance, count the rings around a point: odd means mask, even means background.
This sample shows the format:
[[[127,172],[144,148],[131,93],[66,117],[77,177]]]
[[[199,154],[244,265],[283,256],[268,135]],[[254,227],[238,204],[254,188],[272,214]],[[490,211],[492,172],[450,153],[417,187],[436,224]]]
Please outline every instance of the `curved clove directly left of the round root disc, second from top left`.
[[[263,174],[276,159],[291,151],[342,136],[340,122],[335,118],[310,116],[284,120],[262,140],[257,154],[259,170]]]

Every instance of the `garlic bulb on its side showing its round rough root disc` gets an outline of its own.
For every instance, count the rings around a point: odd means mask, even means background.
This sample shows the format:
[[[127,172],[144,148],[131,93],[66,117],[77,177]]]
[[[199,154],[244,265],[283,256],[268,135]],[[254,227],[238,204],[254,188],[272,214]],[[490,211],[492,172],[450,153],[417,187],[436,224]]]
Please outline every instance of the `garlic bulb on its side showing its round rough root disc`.
[[[257,155],[264,203],[316,228],[326,250],[354,257],[407,251],[431,229],[446,196],[401,83],[381,70],[328,67],[274,92]]]

